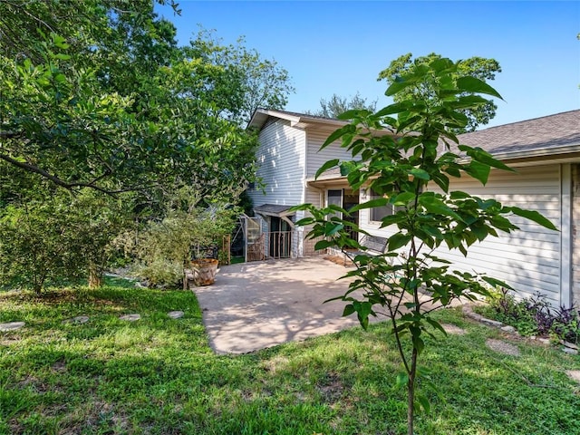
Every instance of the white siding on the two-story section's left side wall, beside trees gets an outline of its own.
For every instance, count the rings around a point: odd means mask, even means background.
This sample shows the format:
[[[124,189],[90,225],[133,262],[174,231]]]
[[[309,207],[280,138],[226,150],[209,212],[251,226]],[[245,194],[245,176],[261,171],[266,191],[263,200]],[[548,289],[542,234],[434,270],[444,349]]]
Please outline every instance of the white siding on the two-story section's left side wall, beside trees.
[[[275,121],[260,131],[257,176],[266,184],[249,193],[254,206],[295,206],[304,202],[305,133],[288,121]]]

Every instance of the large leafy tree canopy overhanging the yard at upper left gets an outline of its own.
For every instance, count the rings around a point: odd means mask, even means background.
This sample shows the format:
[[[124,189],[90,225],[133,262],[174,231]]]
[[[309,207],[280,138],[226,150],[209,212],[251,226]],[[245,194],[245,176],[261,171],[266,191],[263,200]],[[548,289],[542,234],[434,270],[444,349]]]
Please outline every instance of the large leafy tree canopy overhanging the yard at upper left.
[[[36,195],[48,191],[46,182],[76,198],[92,198],[85,189],[123,198],[140,221],[162,219],[164,202],[183,186],[200,207],[235,202],[255,176],[256,135],[242,126],[247,96],[283,105],[291,89],[285,70],[242,43],[198,37],[178,47],[175,27],[150,0],[6,1],[0,24],[0,218],[8,230],[24,218],[54,227],[50,210],[73,204],[68,194]],[[104,225],[114,220],[111,204],[74,204],[87,213],[64,213],[59,222],[98,221],[108,240],[115,236],[119,226]],[[73,243],[75,233],[66,234]],[[89,238],[77,233],[79,247]],[[102,256],[86,257],[98,282]]]

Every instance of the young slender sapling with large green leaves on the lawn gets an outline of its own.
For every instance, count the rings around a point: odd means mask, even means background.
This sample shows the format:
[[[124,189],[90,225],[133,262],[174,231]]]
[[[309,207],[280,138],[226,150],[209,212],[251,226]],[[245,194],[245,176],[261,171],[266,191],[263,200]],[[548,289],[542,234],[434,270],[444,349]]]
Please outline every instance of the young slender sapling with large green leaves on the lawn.
[[[403,367],[397,384],[407,391],[409,435],[413,434],[414,412],[430,408],[425,395],[416,393],[424,336],[436,330],[445,333],[431,316],[434,307],[486,295],[489,285],[509,288],[491,276],[457,270],[438,256],[438,248],[459,249],[467,256],[475,243],[498,237],[498,232],[516,230],[510,221],[513,215],[556,229],[536,211],[449,189],[451,178],[477,179],[485,185],[492,168],[512,170],[487,151],[460,144],[452,132],[467,125],[465,110],[488,102],[480,94],[501,98],[486,82],[461,76],[459,66],[440,57],[417,65],[392,82],[386,92],[395,101],[399,94],[409,95],[408,99],[375,113],[343,113],[341,118],[350,122],[324,142],[323,148],[340,140],[353,160],[327,161],[316,177],[339,167],[351,189],[372,189],[381,198],[349,210],[299,206],[309,215],[298,224],[311,226],[309,237],[323,237],[317,249],[339,247],[362,252],[353,259],[355,268],[345,275],[352,278],[348,291],[335,299],[346,302],[343,314],[356,313],[365,329],[370,316],[383,314],[390,319]],[[420,92],[409,92],[425,87],[433,92],[423,95],[424,99],[418,97]],[[393,208],[381,225],[391,236],[382,255],[366,256],[367,247],[351,237],[364,231],[348,217],[363,208],[382,206]]]

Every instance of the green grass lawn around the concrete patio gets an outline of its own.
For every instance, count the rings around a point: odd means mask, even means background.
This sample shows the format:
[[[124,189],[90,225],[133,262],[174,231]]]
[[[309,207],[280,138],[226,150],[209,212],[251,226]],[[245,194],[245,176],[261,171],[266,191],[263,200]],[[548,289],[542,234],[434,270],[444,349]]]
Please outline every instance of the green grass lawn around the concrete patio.
[[[169,319],[182,310],[185,316]],[[121,314],[141,314],[133,323]],[[76,315],[87,324],[66,324]],[[420,434],[580,433],[580,357],[514,341],[521,356],[490,351],[497,330],[459,312],[466,330],[422,355],[439,395]],[[208,347],[195,295],[132,288],[0,294],[0,433],[399,434],[404,391],[386,326],[360,328],[238,356]],[[385,338],[386,337],[386,338]],[[504,337],[505,338],[505,337]],[[506,340],[509,340],[505,338]]]

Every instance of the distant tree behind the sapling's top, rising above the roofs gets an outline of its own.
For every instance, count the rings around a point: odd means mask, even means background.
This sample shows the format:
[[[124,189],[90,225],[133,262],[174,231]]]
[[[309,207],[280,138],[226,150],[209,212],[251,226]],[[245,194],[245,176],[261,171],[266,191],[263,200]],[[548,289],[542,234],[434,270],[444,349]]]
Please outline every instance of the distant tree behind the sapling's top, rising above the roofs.
[[[389,85],[399,82],[408,75],[420,71],[432,61],[440,59],[440,54],[430,53],[427,56],[417,57],[412,59],[412,53],[403,54],[401,57],[392,61],[387,68],[379,73],[378,81],[385,80]],[[458,62],[457,73],[449,76],[451,81],[457,80],[461,76],[469,75],[481,81],[494,80],[496,73],[501,73],[501,67],[495,59],[487,59],[484,57],[470,57]],[[405,88],[403,92],[399,92],[393,96],[395,102],[401,102],[407,98],[414,97],[421,101],[430,102],[430,104],[438,104],[439,98],[445,96],[438,96],[436,94],[438,78],[433,76],[430,80],[415,83],[412,86]],[[469,95],[470,92],[466,92]],[[463,133],[466,131],[475,131],[478,125],[485,125],[496,116],[498,106],[493,100],[488,100],[484,104],[478,104],[477,107],[461,109],[460,111],[468,116],[468,123],[461,128],[455,128],[455,133]]]

